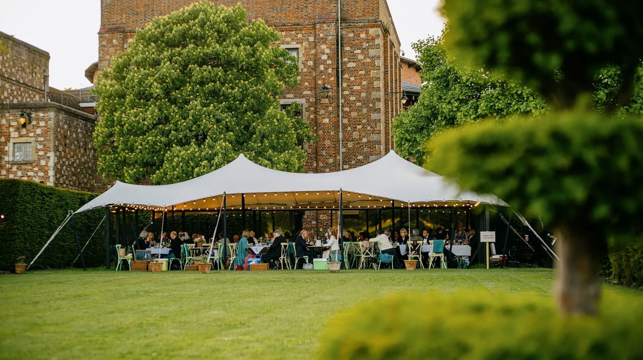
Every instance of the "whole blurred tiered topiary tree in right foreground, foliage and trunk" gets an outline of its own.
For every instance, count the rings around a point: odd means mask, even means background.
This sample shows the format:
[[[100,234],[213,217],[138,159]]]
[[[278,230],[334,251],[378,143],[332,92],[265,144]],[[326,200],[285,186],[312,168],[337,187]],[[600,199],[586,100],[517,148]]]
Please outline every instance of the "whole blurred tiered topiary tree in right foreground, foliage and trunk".
[[[643,3],[450,0],[443,10],[449,51],[538,89],[552,110],[442,134],[433,167],[547,218],[559,238],[559,309],[595,314],[599,255],[610,237],[635,239],[643,210],[643,120],[600,113],[590,99],[596,74],[615,66],[619,80],[595,100],[607,113],[633,104]]]

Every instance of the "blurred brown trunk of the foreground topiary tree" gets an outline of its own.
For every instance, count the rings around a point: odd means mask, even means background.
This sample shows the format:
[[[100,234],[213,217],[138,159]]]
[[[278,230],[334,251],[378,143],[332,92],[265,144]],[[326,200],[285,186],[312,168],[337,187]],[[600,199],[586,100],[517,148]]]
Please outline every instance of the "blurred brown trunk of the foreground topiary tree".
[[[556,303],[563,315],[594,316],[599,301],[599,260],[604,244],[586,225],[563,224],[558,237]]]

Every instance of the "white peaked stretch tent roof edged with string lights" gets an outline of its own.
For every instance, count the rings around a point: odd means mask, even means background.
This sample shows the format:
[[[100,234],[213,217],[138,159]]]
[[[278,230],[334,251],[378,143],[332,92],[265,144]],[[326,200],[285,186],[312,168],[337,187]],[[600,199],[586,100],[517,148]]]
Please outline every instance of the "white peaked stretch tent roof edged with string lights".
[[[395,205],[443,206],[485,203],[508,206],[494,195],[463,192],[453,183],[400,158],[393,150],[361,167],[320,174],[282,172],[249,161],[243,154],[228,165],[203,176],[171,185],[116,184],[76,213],[104,206],[132,206],[154,210],[212,211],[222,206],[240,210],[381,208]],[[244,194],[244,195],[242,195]]]

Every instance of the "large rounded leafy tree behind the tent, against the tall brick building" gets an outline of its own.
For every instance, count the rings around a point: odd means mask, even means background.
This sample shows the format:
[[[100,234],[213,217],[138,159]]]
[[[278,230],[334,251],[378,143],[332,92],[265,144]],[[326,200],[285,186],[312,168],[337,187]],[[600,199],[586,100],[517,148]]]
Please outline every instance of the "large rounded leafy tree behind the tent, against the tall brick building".
[[[101,73],[94,143],[110,179],[175,183],[238,154],[301,171],[311,129],[278,95],[298,67],[261,20],[208,1],[154,19]],[[244,176],[244,174],[239,174]],[[246,174],[248,176],[248,174]]]

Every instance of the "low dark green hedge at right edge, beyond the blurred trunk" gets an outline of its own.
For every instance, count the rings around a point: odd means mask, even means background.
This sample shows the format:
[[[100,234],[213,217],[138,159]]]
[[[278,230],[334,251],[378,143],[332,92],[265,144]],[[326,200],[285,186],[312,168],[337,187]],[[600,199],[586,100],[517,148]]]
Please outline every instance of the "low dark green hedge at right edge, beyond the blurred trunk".
[[[628,245],[611,244],[611,275],[620,284],[643,286],[643,236]]]

